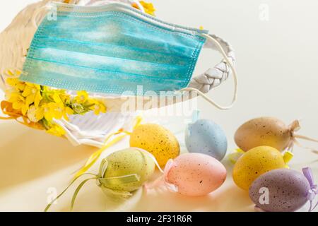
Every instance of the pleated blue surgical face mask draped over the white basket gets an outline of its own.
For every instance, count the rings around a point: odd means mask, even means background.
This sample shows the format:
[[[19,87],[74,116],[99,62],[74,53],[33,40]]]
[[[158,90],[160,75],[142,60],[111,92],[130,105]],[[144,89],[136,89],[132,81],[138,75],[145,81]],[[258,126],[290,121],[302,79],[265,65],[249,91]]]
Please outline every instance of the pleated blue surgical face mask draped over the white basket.
[[[110,95],[189,85],[206,31],[164,23],[124,4],[56,6],[57,17],[46,16],[35,33],[22,81]]]

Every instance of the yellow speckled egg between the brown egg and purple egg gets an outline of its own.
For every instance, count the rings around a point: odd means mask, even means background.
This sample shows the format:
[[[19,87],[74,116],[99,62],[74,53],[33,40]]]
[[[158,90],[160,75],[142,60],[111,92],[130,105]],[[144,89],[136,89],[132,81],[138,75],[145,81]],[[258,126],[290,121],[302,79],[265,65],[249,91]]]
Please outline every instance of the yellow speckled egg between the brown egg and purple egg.
[[[284,167],[283,155],[276,148],[259,146],[247,151],[237,160],[232,177],[237,186],[248,190],[261,174]]]

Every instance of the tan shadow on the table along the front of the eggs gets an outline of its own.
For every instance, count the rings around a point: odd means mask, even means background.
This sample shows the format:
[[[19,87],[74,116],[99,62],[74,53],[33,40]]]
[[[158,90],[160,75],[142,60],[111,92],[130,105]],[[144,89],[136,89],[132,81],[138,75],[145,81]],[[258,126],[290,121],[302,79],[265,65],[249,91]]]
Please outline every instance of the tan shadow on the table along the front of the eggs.
[[[90,182],[78,194],[73,211],[254,211],[254,204],[250,201],[248,192],[238,189],[235,185],[220,190],[208,196],[188,197],[167,190],[146,192],[144,189],[139,189],[126,201],[111,201],[94,182]],[[73,189],[69,192],[73,194]],[[64,197],[64,202],[59,203],[59,206],[52,210],[70,211],[70,203],[71,196],[69,199]]]

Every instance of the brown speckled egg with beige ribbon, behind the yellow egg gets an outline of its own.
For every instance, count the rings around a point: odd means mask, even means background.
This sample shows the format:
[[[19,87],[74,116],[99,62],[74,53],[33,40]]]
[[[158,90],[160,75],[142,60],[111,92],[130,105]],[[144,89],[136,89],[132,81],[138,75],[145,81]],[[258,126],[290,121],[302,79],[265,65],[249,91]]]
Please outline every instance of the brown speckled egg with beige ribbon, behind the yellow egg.
[[[266,145],[285,150],[290,143],[291,130],[283,121],[273,117],[260,117],[242,124],[235,132],[235,143],[242,150]]]

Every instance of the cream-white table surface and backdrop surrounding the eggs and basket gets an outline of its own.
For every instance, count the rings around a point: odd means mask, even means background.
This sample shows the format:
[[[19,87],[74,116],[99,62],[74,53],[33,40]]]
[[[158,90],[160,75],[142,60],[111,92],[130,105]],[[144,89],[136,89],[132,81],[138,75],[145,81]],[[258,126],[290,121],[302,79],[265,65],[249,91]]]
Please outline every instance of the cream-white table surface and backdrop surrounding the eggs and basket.
[[[18,11],[33,1],[0,2],[0,30],[6,28]],[[220,124],[228,136],[229,153],[235,149],[232,136],[240,124],[259,116],[273,116],[286,124],[302,117],[300,134],[318,137],[318,23],[315,0],[259,1],[153,1],[158,16],[172,23],[190,25],[215,32],[232,43],[237,52],[240,76],[239,100],[230,111],[221,112],[199,100],[202,117]],[[265,4],[265,5],[264,5]],[[264,20],[264,7],[267,19]],[[262,13],[263,12],[263,13]],[[219,61],[219,55],[203,52],[197,73]],[[211,97],[219,102],[230,100],[232,80],[213,90]],[[0,94],[1,99],[2,93]],[[177,134],[184,150],[184,118],[148,115],[146,121],[164,124]],[[314,143],[305,145],[316,146]],[[127,141],[110,150],[126,148]],[[14,121],[0,121],[0,210],[41,211],[52,189],[60,192],[69,183],[71,173],[95,151],[88,146],[71,144],[42,131],[25,128]],[[295,148],[290,167],[301,170],[310,166],[318,182],[317,155]],[[248,194],[232,182],[232,165],[225,184],[209,196],[189,198],[168,191],[137,191],[124,203],[108,200],[90,182],[76,201],[76,211],[253,211]],[[96,167],[96,166],[95,166]],[[93,169],[92,169],[93,170]],[[74,187],[52,210],[67,211]],[[307,206],[301,210],[307,210]]]

